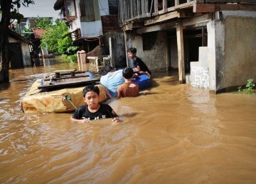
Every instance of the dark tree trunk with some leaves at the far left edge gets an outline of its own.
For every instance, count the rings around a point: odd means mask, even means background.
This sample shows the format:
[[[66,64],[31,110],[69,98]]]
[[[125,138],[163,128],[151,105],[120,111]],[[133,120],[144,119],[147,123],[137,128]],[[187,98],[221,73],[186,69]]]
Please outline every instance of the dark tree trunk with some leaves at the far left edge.
[[[9,82],[9,25],[16,19],[18,23],[23,16],[17,8],[34,4],[31,0],[0,0],[0,83]]]

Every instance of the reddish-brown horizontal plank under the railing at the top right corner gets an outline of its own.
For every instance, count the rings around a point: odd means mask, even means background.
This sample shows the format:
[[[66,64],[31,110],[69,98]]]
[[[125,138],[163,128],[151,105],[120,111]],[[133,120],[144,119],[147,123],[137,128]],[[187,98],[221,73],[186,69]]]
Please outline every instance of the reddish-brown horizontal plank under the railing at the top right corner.
[[[256,4],[193,4],[194,13],[215,11],[256,11]]]

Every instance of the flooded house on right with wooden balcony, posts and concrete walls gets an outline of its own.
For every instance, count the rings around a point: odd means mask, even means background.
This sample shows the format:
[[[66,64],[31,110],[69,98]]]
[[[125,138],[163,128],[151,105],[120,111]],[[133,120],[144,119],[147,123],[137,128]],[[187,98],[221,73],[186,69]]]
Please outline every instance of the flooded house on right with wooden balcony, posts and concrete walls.
[[[215,93],[256,81],[255,0],[118,2],[125,47],[151,70]]]

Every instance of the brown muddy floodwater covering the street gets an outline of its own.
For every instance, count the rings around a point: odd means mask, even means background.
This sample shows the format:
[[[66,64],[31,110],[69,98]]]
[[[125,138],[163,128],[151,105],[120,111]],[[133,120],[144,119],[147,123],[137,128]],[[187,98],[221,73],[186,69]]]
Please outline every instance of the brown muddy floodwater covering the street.
[[[255,95],[215,95],[162,73],[141,96],[110,101],[121,123],[21,111],[41,73],[73,68],[48,61],[0,85],[1,183],[256,183]]]

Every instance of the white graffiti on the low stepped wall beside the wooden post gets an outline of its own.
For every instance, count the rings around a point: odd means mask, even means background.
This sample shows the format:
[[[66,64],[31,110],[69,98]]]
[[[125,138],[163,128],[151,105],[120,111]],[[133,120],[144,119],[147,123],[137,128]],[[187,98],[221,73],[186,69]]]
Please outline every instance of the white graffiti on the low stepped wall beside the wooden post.
[[[209,88],[209,71],[203,69],[203,67],[193,67],[191,68],[191,76],[195,79],[191,83],[193,87],[196,88]]]

